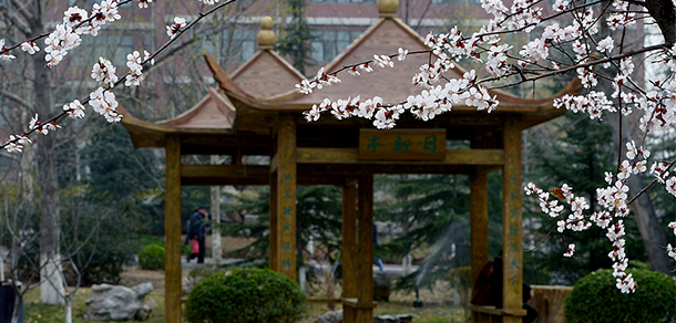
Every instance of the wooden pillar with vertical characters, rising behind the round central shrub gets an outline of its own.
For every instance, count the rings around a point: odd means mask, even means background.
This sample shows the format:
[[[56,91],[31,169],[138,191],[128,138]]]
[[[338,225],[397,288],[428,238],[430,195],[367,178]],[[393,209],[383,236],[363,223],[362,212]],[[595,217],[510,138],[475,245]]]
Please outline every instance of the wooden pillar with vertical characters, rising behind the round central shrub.
[[[277,265],[296,280],[296,118],[279,116],[277,123]]]

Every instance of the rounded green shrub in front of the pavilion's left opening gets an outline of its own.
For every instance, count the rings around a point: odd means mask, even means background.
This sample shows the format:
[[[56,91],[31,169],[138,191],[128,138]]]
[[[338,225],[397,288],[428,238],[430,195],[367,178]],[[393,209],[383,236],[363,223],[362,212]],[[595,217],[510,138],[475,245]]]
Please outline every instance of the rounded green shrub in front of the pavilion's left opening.
[[[305,294],[296,282],[269,269],[217,272],[188,294],[185,316],[191,323],[286,323],[305,313]]]

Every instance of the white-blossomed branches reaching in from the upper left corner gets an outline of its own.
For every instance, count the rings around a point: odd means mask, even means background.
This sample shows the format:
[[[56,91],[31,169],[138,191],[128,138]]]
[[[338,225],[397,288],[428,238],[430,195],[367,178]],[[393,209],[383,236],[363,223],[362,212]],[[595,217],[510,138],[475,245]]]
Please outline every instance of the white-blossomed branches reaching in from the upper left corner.
[[[63,61],[69,51],[81,44],[82,35],[96,37],[104,24],[120,20],[122,17],[120,15],[117,8],[132,1],[133,0],[104,0],[101,3],[93,4],[91,14],[89,14],[86,10],[73,6],[63,12],[63,23],[57,24],[51,33],[34,37],[9,48],[4,43],[4,40],[0,39],[0,61],[10,62],[14,60],[16,56],[12,52],[18,49],[33,55],[40,51],[40,46],[37,42],[44,40],[43,50],[47,52],[47,55],[44,56],[45,67],[52,69]],[[144,50],[143,56],[139,51],[127,54],[126,66],[129,71],[122,76],[117,76],[117,69],[110,60],[99,58],[99,62],[92,67],[91,77],[96,81],[100,86],[94,90],[89,97],[82,101],[74,100],[71,103],[65,104],[60,114],[50,116],[47,119],[40,121],[39,115],[35,114],[23,134],[10,135],[9,140],[0,145],[0,148],[4,148],[8,153],[21,153],[23,146],[31,143],[29,137],[32,134],[41,133],[48,135],[50,131],[61,128],[59,121],[65,116],[71,118],[84,117],[84,105],[88,103],[94,112],[105,117],[107,122],[120,122],[122,115],[116,111],[119,104],[113,88],[122,83],[124,83],[124,86],[141,85],[145,79],[145,75],[143,74],[144,65],[154,64],[154,58],[166,50],[180,35],[196,25],[205,17],[235,1],[237,0],[228,0],[218,3],[218,0],[204,0],[203,2],[205,4],[214,6],[214,8],[204,13],[199,13],[197,18],[190,23],[186,23],[185,19],[181,17],[174,18],[174,23],[166,27],[166,33],[170,38],[168,41],[152,53]],[[151,2],[153,2],[153,0],[139,0],[139,8],[147,8]]]

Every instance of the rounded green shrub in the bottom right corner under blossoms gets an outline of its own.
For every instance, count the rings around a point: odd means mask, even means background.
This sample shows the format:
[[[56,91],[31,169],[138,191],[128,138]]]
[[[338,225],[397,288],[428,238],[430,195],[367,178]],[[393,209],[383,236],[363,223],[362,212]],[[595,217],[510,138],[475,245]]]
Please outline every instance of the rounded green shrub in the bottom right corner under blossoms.
[[[676,322],[676,281],[644,269],[629,269],[636,292],[623,294],[612,270],[598,270],[580,279],[565,303],[566,323]]]

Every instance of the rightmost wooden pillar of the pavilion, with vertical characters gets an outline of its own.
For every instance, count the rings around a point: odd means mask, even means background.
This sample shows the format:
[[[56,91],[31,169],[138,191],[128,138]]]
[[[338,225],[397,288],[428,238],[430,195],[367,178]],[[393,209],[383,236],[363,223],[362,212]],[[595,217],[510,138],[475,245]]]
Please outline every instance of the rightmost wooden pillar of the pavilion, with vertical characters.
[[[502,169],[502,250],[503,250],[503,309],[522,308],[522,192],[521,187],[521,128],[518,121],[508,117],[503,131],[504,166]],[[521,322],[520,316],[506,315],[504,323]]]

